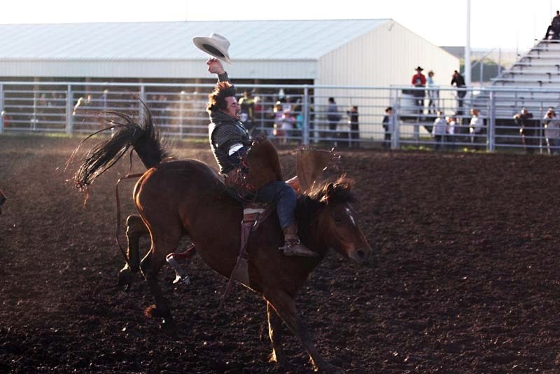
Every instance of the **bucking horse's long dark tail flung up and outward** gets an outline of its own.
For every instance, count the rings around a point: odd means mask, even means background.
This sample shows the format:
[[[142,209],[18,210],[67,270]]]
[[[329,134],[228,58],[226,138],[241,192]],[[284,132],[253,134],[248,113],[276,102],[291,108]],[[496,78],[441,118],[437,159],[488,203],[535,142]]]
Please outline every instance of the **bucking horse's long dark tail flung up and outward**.
[[[141,100],[140,102],[144,111],[139,123],[134,122],[127,114],[118,111],[104,111],[101,113],[99,122],[105,125],[105,127],[90,134],[80,142],[78,148],[80,148],[84,141],[90,139],[95,134],[99,134],[99,132],[106,130],[114,130],[116,132],[109,140],[97,144],[85,155],[84,160],[80,162],[78,171],[73,176],[73,182],[76,187],[80,189],[87,188],[97,176],[115,165],[131,146],[139,155],[146,169],[158,165],[164,158],[168,157],[165,144],[163,144],[160,137],[160,132],[153,125],[150,109],[144,102]],[[102,115],[109,115],[112,119]],[[76,155],[78,148],[71,155],[69,162]]]

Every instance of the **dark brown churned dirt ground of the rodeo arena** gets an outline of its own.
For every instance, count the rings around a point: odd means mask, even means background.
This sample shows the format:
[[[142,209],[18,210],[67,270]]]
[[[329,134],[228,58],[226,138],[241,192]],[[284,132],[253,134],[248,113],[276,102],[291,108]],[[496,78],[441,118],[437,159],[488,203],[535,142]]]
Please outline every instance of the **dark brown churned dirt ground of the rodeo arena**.
[[[190,286],[160,274],[180,335],[160,333],[144,317],[144,281],[116,287],[114,186],[127,161],[95,181],[83,207],[64,172],[78,141],[0,136],[1,373],[311,372],[289,334],[288,364],[267,362],[262,298],[236,286],[218,310],[226,279],[199,259]],[[289,151],[281,160],[293,176]],[[204,143],[172,153],[214,165]],[[358,268],[330,254],[297,298],[325,359],[348,373],[559,373],[559,158],[341,154],[374,256]],[[122,185],[130,197],[133,182]]]

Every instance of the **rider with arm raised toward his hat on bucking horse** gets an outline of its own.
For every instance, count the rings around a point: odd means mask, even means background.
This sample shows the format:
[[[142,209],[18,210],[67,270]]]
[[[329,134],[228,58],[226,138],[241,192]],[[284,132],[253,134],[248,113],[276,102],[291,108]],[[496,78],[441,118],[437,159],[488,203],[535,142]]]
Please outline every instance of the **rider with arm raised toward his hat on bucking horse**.
[[[208,96],[207,112],[211,123],[208,128],[210,145],[218,162],[221,174],[225,175],[228,193],[241,200],[234,188],[239,179],[241,160],[251,146],[251,138],[241,123],[241,107],[235,99],[235,87],[230,83],[228,73],[218,58],[207,61],[208,71],[218,74],[218,83]],[[318,256],[305,247],[297,236],[295,221],[296,195],[293,188],[284,181],[271,181],[255,193],[256,200],[276,204],[276,215],[284,234],[284,245],[279,249],[285,256]]]

